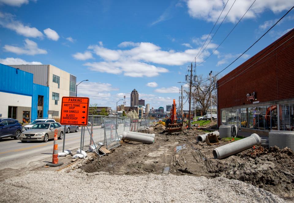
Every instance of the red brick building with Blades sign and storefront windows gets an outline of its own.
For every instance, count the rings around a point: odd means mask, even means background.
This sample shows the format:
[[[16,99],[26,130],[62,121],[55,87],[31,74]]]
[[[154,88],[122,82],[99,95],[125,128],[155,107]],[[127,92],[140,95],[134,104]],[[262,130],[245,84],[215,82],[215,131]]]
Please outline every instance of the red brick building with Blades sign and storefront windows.
[[[218,126],[294,130],[294,29],[217,81]]]

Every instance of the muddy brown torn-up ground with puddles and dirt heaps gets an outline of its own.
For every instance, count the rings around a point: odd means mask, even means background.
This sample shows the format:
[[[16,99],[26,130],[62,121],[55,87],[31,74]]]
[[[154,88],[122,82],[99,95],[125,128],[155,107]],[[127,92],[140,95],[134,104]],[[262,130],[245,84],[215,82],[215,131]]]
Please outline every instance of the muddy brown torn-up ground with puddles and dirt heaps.
[[[218,160],[213,158],[212,150],[229,142],[220,140],[217,146],[207,146],[206,143],[196,143],[199,134],[205,132],[184,130],[171,135],[156,133],[154,144],[123,143],[113,149],[113,153],[89,161],[82,169],[85,172],[119,175],[171,173],[207,178],[221,176],[250,183],[294,201],[294,154],[291,149],[256,147]]]

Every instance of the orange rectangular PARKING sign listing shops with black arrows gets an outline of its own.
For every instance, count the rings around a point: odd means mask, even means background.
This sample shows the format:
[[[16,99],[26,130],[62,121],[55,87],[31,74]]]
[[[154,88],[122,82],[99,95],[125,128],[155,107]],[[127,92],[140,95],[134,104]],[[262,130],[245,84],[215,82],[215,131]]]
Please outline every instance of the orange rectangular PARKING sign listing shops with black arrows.
[[[62,97],[60,124],[86,126],[88,109],[88,97]]]

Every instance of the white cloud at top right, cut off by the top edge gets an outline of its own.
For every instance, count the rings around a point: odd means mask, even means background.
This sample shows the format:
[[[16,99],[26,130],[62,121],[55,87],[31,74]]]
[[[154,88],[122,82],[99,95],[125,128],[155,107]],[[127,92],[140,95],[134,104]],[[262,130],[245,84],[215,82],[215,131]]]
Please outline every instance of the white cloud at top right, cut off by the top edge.
[[[219,17],[226,0],[187,0],[188,13],[193,18],[203,19],[208,22],[215,22]],[[220,19],[228,13],[234,1],[228,1]],[[247,9],[252,4],[253,0],[238,0],[233,5],[228,13],[225,21],[235,23],[237,22]],[[271,10],[273,13],[279,13],[283,10],[290,9],[294,4],[293,0],[268,0],[256,1],[251,9],[246,13],[244,18],[255,18],[266,10]]]

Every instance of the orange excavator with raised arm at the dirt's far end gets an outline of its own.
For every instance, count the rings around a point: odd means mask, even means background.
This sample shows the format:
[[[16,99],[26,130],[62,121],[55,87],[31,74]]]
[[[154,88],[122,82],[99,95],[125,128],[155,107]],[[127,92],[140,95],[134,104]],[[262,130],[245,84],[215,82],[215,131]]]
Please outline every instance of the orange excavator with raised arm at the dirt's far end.
[[[171,107],[171,116],[165,122],[165,131],[168,131],[169,134],[172,132],[182,131],[183,122],[178,122],[177,119],[177,107],[175,104],[175,99]]]

